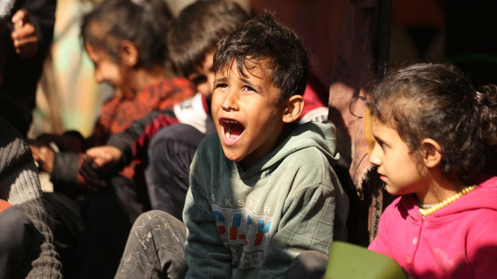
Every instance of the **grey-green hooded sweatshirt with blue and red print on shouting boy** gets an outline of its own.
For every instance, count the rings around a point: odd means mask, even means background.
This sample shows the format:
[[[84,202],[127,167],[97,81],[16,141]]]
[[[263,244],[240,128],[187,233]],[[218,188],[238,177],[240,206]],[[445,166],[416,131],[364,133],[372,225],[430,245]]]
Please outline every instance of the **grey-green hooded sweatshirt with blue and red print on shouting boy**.
[[[297,126],[250,169],[226,159],[216,133],[190,169],[183,210],[187,278],[278,278],[301,252],[344,237],[348,199],[332,169],[331,123]]]

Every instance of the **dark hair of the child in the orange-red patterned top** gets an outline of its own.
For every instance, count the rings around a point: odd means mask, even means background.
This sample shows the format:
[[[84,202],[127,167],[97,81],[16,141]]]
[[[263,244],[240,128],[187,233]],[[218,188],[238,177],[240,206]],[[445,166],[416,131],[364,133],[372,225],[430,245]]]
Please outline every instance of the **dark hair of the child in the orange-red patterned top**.
[[[105,0],[84,16],[81,36],[84,43],[105,51],[116,61],[119,44],[128,40],[138,50],[138,66],[151,68],[168,57],[171,20],[163,0]]]

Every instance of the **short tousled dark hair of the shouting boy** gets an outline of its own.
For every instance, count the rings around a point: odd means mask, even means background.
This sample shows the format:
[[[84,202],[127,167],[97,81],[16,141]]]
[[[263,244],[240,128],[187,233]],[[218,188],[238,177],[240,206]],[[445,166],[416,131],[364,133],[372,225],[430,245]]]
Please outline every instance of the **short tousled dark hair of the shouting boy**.
[[[267,63],[273,85],[280,89],[280,101],[303,95],[307,84],[309,56],[295,32],[276,22],[271,14],[255,17],[240,25],[217,44],[213,68],[229,71],[236,61],[238,73],[246,76],[252,63]]]

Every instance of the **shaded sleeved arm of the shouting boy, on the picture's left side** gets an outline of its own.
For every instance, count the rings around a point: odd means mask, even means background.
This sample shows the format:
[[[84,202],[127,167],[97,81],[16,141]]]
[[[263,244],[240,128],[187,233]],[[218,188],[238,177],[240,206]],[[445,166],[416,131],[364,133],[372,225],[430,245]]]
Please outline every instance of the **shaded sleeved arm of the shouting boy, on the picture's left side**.
[[[205,192],[190,179],[183,220],[187,227],[186,278],[230,278],[231,253],[223,245]]]

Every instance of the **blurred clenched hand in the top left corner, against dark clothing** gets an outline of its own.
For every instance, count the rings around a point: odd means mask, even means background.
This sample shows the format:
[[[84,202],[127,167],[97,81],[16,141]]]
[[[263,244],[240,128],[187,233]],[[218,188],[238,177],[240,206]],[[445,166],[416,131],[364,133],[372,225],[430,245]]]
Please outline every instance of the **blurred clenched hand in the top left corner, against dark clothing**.
[[[12,23],[14,28],[11,38],[16,53],[23,58],[35,56],[38,52],[39,38],[35,33],[35,26],[30,22],[29,13],[23,9],[17,11],[12,17]]]

